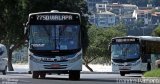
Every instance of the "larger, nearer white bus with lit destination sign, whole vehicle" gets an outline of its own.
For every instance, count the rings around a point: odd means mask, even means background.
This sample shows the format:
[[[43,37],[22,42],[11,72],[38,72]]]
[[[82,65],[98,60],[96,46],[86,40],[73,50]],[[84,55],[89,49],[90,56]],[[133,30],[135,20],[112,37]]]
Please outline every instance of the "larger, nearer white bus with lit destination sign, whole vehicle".
[[[38,12],[29,14],[29,69],[32,78],[46,73],[69,74],[79,80],[82,70],[80,14],[71,12]]]

